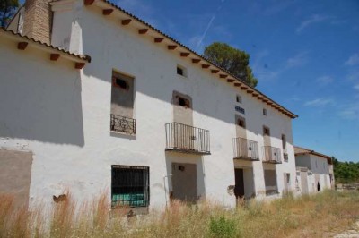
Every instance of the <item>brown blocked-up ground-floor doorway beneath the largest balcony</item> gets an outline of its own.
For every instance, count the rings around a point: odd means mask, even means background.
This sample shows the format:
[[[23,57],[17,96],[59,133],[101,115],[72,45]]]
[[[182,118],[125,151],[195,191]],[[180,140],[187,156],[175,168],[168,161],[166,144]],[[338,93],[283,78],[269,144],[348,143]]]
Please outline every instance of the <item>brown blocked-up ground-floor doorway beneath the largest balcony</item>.
[[[197,201],[197,165],[172,163],[172,196],[175,200]]]

